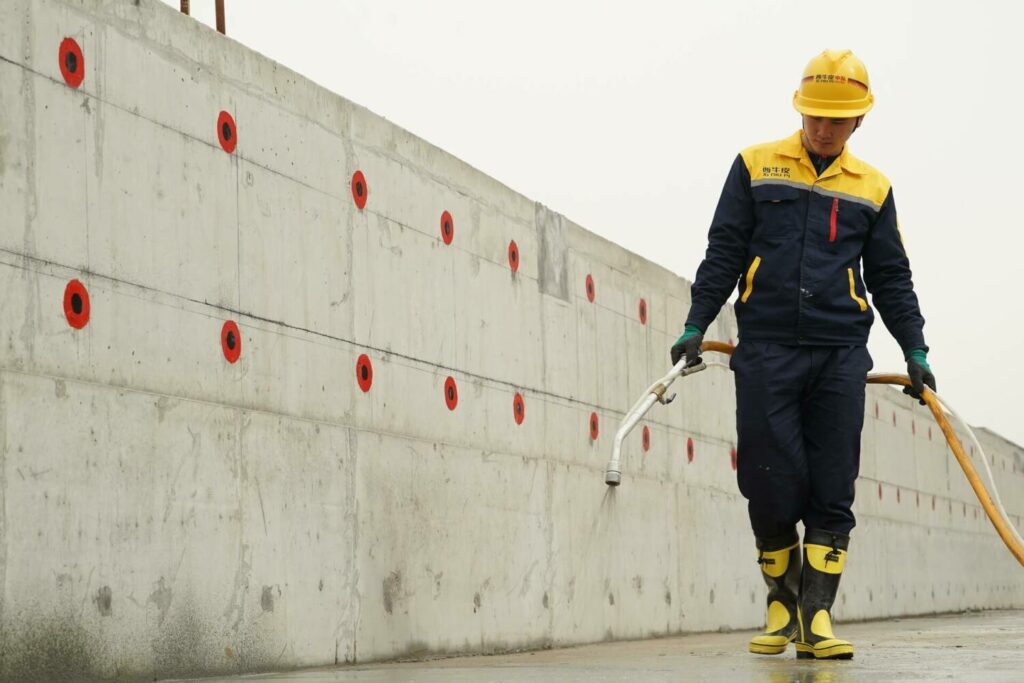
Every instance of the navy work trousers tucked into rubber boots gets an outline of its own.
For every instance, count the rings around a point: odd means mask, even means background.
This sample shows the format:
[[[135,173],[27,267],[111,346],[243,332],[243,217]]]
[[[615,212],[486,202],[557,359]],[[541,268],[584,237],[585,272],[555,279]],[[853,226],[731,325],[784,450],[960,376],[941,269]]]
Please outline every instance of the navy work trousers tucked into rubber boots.
[[[736,380],[736,469],[760,539],[806,528],[849,535],[860,468],[863,346],[786,346],[744,341]]]

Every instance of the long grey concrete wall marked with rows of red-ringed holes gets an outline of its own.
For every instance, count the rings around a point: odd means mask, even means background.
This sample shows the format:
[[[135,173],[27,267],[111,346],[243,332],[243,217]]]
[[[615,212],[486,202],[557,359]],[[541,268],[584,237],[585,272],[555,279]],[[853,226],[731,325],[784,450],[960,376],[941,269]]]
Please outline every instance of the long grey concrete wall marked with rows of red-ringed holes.
[[[0,94],[5,680],[761,623],[727,370],[603,483],[685,281],[153,0],[5,0]],[[925,411],[870,388],[867,412],[839,618],[1024,606]],[[983,438],[1020,525],[1024,457]]]

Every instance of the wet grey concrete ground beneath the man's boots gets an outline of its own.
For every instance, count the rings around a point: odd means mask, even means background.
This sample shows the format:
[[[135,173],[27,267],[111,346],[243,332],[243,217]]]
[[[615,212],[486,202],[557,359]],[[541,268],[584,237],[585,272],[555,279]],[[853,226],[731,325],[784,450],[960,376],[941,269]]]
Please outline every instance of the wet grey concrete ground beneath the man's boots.
[[[580,681],[1024,682],[1024,610],[839,625],[849,661],[807,661],[746,652],[751,632],[604,643],[542,652],[321,669],[205,681],[293,683],[548,683]]]

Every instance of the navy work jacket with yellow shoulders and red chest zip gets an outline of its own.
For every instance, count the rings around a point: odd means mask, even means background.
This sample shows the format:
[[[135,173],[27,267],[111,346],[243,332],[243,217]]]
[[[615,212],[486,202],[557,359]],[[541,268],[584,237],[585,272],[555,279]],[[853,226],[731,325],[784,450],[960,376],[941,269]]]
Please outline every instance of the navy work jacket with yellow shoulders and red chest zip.
[[[733,288],[740,339],[866,345],[870,292],[904,355],[928,349],[888,178],[845,148],[819,176],[800,131],[736,158],[686,323],[706,331]]]

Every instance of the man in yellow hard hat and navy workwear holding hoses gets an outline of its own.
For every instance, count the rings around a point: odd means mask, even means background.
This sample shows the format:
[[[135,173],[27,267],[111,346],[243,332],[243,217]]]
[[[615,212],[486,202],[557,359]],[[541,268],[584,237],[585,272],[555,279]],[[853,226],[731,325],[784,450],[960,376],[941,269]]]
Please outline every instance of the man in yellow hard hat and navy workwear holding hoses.
[[[906,359],[904,391],[921,399],[935,377],[889,180],[847,146],[873,103],[867,70],[850,50],[825,50],[793,103],[801,129],[748,147],[729,171],[671,356],[699,362],[736,288],[737,478],[768,586],[765,632],[750,650],[778,654],[796,641],[798,657],[848,659],[831,606],[855,523],[868,293]]]

